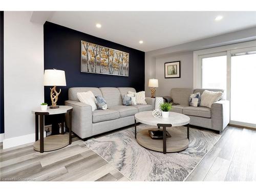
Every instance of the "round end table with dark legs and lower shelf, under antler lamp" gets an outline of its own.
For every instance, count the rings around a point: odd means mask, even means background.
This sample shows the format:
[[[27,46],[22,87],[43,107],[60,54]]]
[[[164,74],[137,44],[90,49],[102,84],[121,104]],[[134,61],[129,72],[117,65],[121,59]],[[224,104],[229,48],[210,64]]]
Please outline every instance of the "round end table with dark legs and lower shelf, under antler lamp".
[[[40,108],[33,110],[32,114],[35,115],[35,143],[34,150],[40,151],[40,153],[58,150],[59,148],[65,147],[71,144],[71,130],[72,130],[72,106],[60,105],[58,109],[47,108],[47,111],[41,111]],[[64,118],[61,121],[61,134],[50,135],[44,138],[44,119],[45,115],[56,115],[56,114],[69,114],[70,126],[69,133],[64,133]],[[38,124],[40,124],[40,139],[38,140]]]

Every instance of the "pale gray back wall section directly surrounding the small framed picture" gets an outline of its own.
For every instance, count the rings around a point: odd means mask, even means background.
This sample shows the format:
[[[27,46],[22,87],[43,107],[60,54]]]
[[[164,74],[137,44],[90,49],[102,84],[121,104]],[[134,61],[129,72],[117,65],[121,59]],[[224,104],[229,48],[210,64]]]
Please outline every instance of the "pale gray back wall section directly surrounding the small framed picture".
[[[164,78],[164,63],[181,61],[180,78]],[[172,88],[193,88],[193,52],[170,54],[169,56],[156,58],[156,79],[159,87],[156,96],[169,96]]]

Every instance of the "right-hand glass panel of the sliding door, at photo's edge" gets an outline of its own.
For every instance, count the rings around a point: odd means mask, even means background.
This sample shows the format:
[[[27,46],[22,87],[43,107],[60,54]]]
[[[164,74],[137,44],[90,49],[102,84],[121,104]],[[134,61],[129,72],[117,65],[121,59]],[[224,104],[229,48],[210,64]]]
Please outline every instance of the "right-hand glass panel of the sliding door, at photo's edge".
[[[231,53],[230,121],[256,126],[256,50]]]

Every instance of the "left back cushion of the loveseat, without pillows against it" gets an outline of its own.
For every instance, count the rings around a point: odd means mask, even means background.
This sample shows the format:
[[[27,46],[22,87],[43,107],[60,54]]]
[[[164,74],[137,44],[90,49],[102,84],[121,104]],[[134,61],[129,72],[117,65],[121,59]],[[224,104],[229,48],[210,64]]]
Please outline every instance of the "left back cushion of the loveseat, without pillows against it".
[[[173,88],[172,90],[170,90],[170,97],[172,97],[174,103],[188,106],[188,97],[192,93],[192,89]]]

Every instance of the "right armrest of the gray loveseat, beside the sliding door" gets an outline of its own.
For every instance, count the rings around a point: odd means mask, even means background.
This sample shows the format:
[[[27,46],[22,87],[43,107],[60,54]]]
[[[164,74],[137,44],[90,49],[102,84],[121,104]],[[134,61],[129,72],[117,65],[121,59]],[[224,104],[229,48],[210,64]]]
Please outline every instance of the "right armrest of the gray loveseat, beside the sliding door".
[[[212,127],[223,131],[229,123],[229,101],[220,100],[211,105]]]

